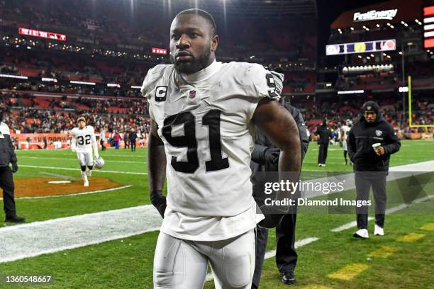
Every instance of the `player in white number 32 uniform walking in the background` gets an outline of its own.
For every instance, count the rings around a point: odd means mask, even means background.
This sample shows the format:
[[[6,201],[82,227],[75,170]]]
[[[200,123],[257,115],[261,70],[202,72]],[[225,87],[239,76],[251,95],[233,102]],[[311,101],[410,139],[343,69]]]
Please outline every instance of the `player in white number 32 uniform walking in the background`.
[[[94,157],[99,158],[98,145],[96,145],[94,128],[91,125],[86,125],[86,119],[83,117],[78,118],[77,123],[78,128],[73,128],[71,131],[71,150],[77,152],[77,159],[82,169],[83,184],[89,186],[87,177],[91,176],[94,168]]]

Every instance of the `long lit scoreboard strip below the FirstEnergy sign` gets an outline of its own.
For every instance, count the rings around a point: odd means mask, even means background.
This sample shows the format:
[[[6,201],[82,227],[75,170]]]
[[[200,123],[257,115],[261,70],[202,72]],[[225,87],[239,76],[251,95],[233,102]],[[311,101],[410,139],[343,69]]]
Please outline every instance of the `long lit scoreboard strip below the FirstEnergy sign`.
[[[327,45],[325,47],[325,55],[345,55],[365,52],[372,53],[391,50],[396,50],[395,39]]]

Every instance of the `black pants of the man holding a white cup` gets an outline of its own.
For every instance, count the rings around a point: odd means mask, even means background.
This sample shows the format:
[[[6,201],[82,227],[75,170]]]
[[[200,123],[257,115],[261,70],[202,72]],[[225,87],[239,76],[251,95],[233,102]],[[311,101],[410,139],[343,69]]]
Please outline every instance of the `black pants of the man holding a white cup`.
[[[369,190],[372,186],[375,201],[375,223],[384,227],[384,216],[386,213],[386,173],[377,172],[356,172],[355,187],[357,192],[356,200],[369,200]],[[367,229],[368,207],[356,207],[357,228]]]

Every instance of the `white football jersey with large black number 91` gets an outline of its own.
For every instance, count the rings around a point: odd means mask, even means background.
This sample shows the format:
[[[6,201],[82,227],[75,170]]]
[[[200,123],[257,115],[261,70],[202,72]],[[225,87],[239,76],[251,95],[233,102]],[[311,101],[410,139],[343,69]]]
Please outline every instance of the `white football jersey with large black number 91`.
[[[165,144],[166,215],[182,214],[178,220],[185,220],[250,212],[255,205],[250,123],[261,98],[279,97],[272,74],[242,62],[213,62],[195,74],[157,65],[146,75],[142,94]],[[255,225],[255,211],[249,216]]]

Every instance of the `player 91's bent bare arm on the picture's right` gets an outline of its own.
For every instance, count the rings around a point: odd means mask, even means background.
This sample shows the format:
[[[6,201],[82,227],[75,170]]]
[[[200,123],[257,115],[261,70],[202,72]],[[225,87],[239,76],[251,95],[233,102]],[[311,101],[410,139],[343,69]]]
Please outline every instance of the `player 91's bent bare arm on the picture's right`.
[[[296,182],[299,179],[298,172],[301,169],[301,145],[299,130],[291,113],[277,101],[263,98],[258,103],[252,120],[269,139],[281,149],[279,157],[279,181]],[[277,193],[277,200],[291,198],[291,192],[281,191]],[[263,227],[275,227],[281,217],[266,215],[260,225]]]

